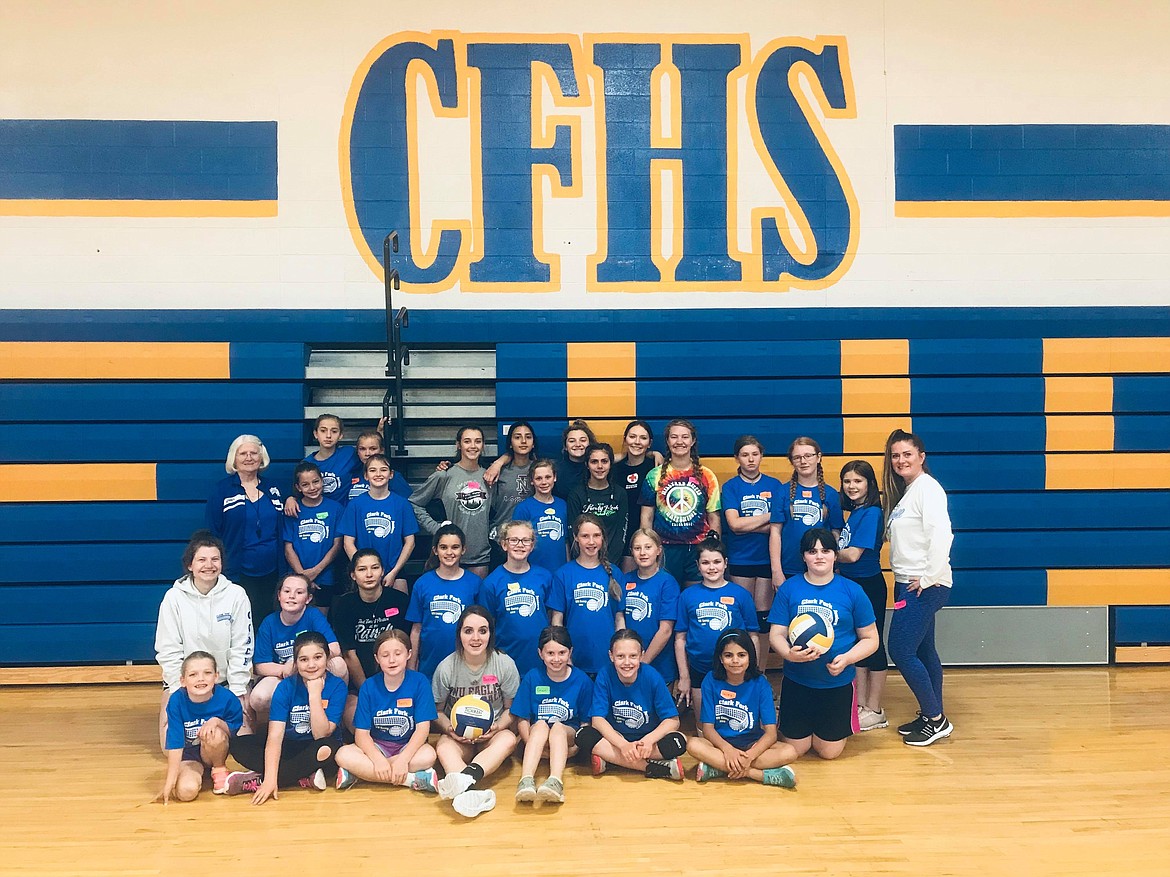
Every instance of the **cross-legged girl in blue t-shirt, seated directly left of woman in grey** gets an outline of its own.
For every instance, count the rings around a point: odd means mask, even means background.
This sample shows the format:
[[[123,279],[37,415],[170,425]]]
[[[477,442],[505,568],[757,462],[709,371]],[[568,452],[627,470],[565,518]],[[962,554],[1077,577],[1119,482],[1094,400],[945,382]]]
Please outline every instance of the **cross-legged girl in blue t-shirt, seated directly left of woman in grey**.
[[[383,631],[373,658],[381,672],[358,692],[353,743],[337,751],[337,790],[363,779],[435,792],[435,751],[427,734],[439,713],[431,681],[407,669],[411,638],[401,630]]]

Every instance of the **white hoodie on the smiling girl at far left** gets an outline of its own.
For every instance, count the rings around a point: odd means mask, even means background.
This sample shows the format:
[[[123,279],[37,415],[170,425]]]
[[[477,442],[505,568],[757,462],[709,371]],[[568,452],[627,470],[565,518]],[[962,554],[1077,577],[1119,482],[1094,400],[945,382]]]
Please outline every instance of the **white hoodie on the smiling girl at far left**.
[[[220,683],[233,695],[242,695],[248,690],[254,648],[248,594],[223,575],[206,594],[184,575],[158,607],[154,652],[167,691],[179,688],[183,660],[201,649],[215,656]]]

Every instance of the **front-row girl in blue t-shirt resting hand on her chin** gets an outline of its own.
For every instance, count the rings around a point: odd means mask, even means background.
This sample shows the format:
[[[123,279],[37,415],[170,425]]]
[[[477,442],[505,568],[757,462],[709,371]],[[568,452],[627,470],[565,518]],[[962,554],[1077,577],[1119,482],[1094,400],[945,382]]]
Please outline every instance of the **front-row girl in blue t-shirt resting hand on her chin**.
[[[342,745],[338,725],[345,709],[345,683],[326,669],[325,637],[316,630],[292,643],[296,675],[276,686],[268,734],[232,738],[232,757],[246,771],[227,776],[227,794],[252,792],[252,802],[277,797],[281,786],[325,789]]]

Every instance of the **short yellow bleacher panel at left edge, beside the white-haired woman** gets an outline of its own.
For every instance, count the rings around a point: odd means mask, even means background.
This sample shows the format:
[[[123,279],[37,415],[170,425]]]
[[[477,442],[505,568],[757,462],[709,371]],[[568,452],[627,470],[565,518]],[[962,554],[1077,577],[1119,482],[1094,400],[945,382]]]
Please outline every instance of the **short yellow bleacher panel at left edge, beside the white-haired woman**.
[[[0,503],[99,503],[157,498],[153,463],[0,465]]]

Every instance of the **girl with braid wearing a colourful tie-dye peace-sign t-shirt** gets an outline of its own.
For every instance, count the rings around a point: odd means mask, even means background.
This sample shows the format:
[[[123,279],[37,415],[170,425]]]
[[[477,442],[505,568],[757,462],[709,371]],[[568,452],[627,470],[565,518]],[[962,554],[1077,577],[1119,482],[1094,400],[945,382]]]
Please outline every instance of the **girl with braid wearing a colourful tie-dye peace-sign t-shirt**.
[[[696,546],[720,534],[720,482],[698,458],[698,434],[688,420],[666,424],[670,460],[642,484],[642,520],[662,537],[662,567],[682,587],[698,582]]]

